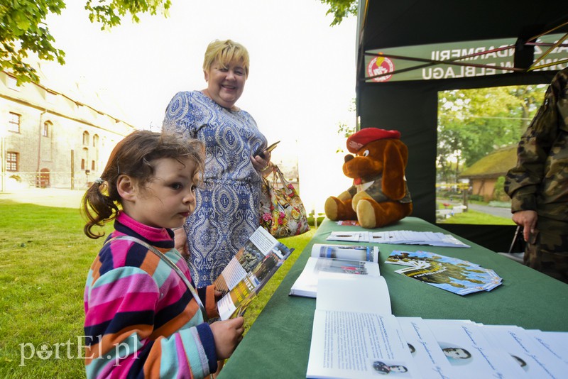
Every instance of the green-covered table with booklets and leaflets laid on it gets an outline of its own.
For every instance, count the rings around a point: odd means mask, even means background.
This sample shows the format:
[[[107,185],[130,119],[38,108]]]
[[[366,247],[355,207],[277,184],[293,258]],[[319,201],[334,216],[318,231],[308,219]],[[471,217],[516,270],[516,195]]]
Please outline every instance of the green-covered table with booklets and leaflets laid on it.
[[[288,296],[314,243],[326,241],[331,231],[364,230],[324,220],[290,272],[266,304],[256,322],[226,363],[219,378],[305,378],[310,352],[315,299]],[[365,229],[369,230],[369,229]],[[416,217],[371,231],[447,231]],[[388,283],[393,314],[424,319],[471,319],[483,324],[518,325],[525,329],[568,331],[568,285],[456,236],[471,248],[379,244],[381,275]],[[401,265],[387,265],[393,250],[432,251],[478,263],[503,278],[491,292],[455,295],[395,273]]]

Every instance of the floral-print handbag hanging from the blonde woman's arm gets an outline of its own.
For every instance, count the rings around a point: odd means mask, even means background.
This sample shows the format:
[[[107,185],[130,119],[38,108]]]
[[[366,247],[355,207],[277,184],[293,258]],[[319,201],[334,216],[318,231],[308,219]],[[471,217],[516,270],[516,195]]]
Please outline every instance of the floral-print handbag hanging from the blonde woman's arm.
[[[263,178],[261,226],[275,238],[297,236],[310,230],[306,209],[292,184],[274,166],[272,183]]]

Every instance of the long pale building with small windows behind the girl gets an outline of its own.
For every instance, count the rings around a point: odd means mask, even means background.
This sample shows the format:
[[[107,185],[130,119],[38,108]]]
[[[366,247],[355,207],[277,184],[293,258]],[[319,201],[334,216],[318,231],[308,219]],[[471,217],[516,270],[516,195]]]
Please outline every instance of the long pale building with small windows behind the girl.
[[[58,92],[45,82],[18,87],[0,72],[1,191],[87,187],[114,145],[135,130],[118,111],[107,113],[96,93]]]

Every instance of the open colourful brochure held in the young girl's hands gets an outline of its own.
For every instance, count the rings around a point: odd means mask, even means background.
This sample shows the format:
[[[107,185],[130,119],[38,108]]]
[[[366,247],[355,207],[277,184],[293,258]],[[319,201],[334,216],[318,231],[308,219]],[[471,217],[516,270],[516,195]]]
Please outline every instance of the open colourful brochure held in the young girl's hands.
[[[224,295],[217,302],[221,319],[243,314],[293,250],[259,226],[214,282]]]

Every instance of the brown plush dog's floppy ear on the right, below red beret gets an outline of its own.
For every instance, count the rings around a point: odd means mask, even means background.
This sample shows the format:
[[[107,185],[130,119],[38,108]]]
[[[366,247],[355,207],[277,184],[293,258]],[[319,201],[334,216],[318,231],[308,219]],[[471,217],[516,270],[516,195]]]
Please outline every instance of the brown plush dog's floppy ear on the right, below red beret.
[[[408,161],[408,148],[400,141],[387,143],[383,150],[383,193],[391,199],[402,199],[406,193],[404,170]]]

